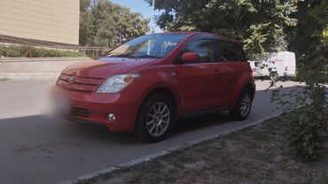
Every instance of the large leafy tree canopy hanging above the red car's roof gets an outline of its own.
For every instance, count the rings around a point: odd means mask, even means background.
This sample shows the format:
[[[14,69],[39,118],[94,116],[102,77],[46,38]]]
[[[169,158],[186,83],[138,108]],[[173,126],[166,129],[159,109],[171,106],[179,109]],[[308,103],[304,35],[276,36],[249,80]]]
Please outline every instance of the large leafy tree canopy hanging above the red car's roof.
[[[145,0],[151,4],[151,0]],[[205,31],[228,35],[244,43],[250,58],[286,50],[285,27],[295,27],[297,0],[168,0],[156,1],[157,17],[169,31]]]

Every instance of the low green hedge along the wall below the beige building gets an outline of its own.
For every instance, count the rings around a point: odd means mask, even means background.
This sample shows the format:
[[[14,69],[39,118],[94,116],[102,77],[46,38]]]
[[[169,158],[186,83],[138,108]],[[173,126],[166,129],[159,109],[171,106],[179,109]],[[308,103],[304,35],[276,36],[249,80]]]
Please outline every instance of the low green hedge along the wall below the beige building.
[[[85,55],[79,51],[39,49],[29,46],[0,47],[0,55],[7,58],[85,57]]]

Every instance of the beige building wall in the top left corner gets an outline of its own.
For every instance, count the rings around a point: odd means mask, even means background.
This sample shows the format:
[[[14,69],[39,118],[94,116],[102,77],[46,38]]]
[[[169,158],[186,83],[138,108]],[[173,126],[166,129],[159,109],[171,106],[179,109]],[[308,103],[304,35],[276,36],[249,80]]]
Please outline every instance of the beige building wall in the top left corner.
[[[0,0],[0,44],[76,46],[80,0]]]

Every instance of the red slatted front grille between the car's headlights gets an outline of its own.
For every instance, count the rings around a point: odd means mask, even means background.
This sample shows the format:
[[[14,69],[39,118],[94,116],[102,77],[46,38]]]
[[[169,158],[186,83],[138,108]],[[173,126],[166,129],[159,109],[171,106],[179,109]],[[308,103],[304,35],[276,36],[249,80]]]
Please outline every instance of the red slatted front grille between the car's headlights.
[[[100,85],[102,79],[81,77],[74,75],[74,81],[70,82],[73,75],[61,74],[57,85],[73,91],[93,92]]]

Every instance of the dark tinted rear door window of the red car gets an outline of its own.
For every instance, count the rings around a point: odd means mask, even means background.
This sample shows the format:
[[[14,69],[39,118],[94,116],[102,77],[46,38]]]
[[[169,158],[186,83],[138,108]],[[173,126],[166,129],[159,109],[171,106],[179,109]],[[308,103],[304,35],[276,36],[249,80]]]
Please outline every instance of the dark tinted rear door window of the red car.
[[[235,44],[232,42],[224,42],[215,40],[215,58],[217,61],[237,61],[237,53]]]

